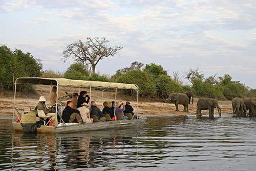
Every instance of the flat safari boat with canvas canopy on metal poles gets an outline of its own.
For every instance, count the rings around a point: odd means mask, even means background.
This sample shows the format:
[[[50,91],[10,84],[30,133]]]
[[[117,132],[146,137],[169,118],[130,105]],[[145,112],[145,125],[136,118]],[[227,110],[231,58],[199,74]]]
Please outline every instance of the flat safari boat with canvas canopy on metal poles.
[[[55,126],[51,126],[51,124],[44,123],[41,126],[35,126],[34,129],[37,133],[74,133],[81,131],[92,131],[92,130],[102,130],[102,129],[114,129],[114,128],[125,128],[125,127],[136,127],[142,126],[146,121],[146,117],[139,116],[139,87],[135,84],[123,84],[123,83],[107,83],[101,81],[82,81],[82,80],[69,80],[66,78],[38,78],[38,77],[21,77],[17,78],[15,81],[15,90],[14,90],[14,113],[12,117],[12,124],[15,131],[25,131],[25,125],[22,123],[22,115],[20,114],[16,104],[16,91],[18,84],[30,84],[30,85],[50,85],[50,94],[51,87],[57,87],[57,101],[58,101],[58,90],[60,87],[76,87],[78,91],[80,88],[89,88],[89,94],[91,97],[91,88],[97,88],[102,90],[102,100],[104,100],[104,91],[108,88],[115,90],[115,101],[117,98],[117,89],[127,89],[127,90],[135,90],[137,93],[137,110],[136,115],[137,118],[132,118],[131,120],[114,120],[114,121],[104,121],[97,123],[64,123],[61,119],[63,104],[57,103],[55,104]],[[89,107],[91,104],[89,102]],[[25,115],[25,114],[24,114]],[[135,114],[134,114],[135,116]],[[60,118],[58,121],[57,117]],[[90,112],[89,112],[90,118]],[[115,117],[116,118],[116,117]],[[33,121],[34,122],[34,121]],[[28,124],[29,129],[32,129],[31,124]]]

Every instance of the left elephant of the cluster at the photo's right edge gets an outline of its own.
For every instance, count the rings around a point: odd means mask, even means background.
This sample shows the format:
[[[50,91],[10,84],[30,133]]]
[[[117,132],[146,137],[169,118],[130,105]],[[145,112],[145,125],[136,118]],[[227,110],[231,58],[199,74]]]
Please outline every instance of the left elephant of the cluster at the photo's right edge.
[[[246,116],[247,114],[246,106],[242,98],[239,98],[239,97],[233,98],[232,108],[233,108],[233,114],[236,114],[236,116]]]

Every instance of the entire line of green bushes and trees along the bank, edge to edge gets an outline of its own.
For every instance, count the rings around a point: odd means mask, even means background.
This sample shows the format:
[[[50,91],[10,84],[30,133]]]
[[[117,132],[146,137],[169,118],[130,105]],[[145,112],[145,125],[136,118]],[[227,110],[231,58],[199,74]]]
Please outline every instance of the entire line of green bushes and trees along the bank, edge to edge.
[[[11,51],[5,45],[0,46],[0,88],[12,90],[13,80],[17,77],[48,77],[69,78],[73,80],[106,81],[139,85],[139,95],[145,98],[167,98],[173,92],[192,91],[198,97],[231,100],[234,97],[255,97],[256,89],[246,87],[239,81],[232,80],[231,75],[222,77],[212,75],[205,77],[198,68],[190,69],[182,76],[191,82],[183,85],[178,72],[172,77],[157,64],[142,64],[137,61],[129,67],[116,71],[112,76],[90,73],[90,68],[83,63],[74,63],[64,73],[55,71],[41,71],[42,64],[30,53],[21,50]],[[24,87],[24,86],[23,86]],[[18,87],[23,91],[31,91],[28,87]]]

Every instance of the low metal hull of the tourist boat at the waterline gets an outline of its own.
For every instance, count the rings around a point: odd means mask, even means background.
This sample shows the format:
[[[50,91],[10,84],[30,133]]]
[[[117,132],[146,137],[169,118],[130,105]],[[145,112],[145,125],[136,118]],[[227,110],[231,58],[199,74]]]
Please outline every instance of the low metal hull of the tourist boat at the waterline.
[[[125,127],[137,127],[142,126],[146,121],[146,117],[141,117],[140,119],[133,120],[117,120],[117,121],[104,121],[98,123],[83,123],[70,126],[41,126],[37,128],[37,133],[75,133],[81,131],[94,131],[103,129],[115,129],[115,128],[125,128]],[[23,131],[21,123],[13,122],[15,131]]]

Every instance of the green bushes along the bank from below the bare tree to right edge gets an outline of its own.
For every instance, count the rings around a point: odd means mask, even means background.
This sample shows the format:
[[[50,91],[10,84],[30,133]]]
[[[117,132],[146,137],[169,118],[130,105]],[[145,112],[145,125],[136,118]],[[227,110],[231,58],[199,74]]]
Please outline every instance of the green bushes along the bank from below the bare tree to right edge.
[[[183,85],[178,72],[170,77],[161,65],[146,64],[135,61],[130,67],[117,70],[114,75],[88,74],[83,64],[72,64],[63,74],[64,78],[76,80],[107,81],[139,85],[140,97],[166,98],[173,92],[192,91],[198,97],[218,98],[219,100],[231,100],[234,97],[255,97],[256,89],[246,87],[239,81],[233,81],[231,75],[223,77],[212,75],[204,77],[204,74],[196,68],[184,73],[183,77],[191,82],[191,85]]]

